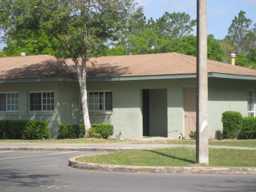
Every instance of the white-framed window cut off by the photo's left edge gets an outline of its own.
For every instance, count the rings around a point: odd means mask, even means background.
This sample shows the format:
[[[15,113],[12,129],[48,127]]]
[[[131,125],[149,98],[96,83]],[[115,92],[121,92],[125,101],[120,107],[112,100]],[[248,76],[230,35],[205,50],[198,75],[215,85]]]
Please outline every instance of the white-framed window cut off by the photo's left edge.
[[[18,92],[0,92],[0,94],[5,94],[5,105],[6,105],[5,110],[0,110],[0,112],[17,112],[18,98],[19,98]],[[12,96],[14,96],[14,98]],[[12,109],[12,107],[14,107],[14,109]]]

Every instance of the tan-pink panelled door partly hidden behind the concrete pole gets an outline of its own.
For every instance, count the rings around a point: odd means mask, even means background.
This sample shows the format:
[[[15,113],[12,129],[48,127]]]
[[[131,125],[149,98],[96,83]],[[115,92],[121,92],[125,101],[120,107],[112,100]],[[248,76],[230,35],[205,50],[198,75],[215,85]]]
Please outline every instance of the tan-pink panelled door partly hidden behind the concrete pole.
[[[185,88],[185,136],[196,131],[196,88]]]

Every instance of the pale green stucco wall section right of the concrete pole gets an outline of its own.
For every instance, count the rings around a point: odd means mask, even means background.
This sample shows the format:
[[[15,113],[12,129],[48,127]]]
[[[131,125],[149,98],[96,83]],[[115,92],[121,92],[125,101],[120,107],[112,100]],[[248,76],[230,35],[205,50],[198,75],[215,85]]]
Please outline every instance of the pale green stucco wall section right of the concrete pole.
[[[256,89],[255,82],[209,79],[208,130],[209,137],[219,138],[222,132],[221,117],[224,111],[238,111],[247,116],[247,91]]]

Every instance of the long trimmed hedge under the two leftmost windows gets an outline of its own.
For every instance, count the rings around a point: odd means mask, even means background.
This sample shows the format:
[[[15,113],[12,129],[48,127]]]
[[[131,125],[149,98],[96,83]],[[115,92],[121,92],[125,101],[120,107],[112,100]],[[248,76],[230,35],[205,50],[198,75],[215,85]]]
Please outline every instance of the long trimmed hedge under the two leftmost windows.
[[[48,139],[47,121],[0,120],[0,139]]]

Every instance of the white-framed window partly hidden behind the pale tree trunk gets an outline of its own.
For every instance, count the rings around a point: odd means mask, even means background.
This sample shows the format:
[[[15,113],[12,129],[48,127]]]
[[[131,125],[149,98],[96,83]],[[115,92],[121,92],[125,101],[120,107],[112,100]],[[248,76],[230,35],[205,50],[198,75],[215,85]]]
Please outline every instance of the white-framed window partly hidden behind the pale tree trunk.
[[[87,91],[87,106],[88,106],[88,111],[89,112],[101,112],[101,111],[113,111],[113,96],[111,96],[110,103],[106,103],[106,93],[111,92],[112,95],[112,91]],[[98,93],[98,95],[100,93],[103,93],[103,97],[93,97],[93,98],[89,98],[90,93]],[[100,99],[103,99],[102,102],[100,102]],[[106,109],[106,105],[109,104],[110,107],[109,109]],[[100,106],[101,105],[101,106]],[[101,108],[101,109],[100,109]],[[81,104],[81,95],[80,95],[80,111],[82,111],[82,104]]]

